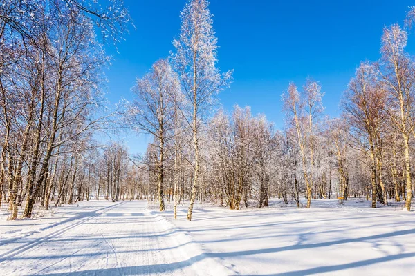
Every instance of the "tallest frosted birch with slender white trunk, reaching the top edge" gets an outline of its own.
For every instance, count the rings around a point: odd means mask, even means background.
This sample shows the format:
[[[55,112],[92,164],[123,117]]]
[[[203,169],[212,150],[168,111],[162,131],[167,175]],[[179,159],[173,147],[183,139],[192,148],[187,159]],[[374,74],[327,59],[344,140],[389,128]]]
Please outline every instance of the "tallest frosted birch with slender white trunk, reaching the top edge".
[[[192,220],[194,201],[200,173],[200,147],[203,121],[212,104],[212,97],[225,86],[231,72],[221,74],[216,68],[217,39],[212,26],[212,14],[207,0],[187,1],[181,11],[181,30],[174,39],[176,53],[173,61],[181,80],[185,101],[190,108],[187,126],[192,132],[194,174],[187,219]],[[185,112],[183,112],[185,113]]]

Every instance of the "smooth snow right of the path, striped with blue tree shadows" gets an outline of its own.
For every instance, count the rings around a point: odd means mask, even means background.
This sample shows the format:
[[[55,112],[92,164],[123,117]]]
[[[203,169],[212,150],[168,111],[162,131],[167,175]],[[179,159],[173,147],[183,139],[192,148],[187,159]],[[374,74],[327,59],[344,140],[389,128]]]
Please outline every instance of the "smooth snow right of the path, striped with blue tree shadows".
[[[415,275],[415,217],[399,206],[314,200],[312,208],[227,210],[186,206],[163,217],[232,275]],[[171,207],[169,207],[171,209]]]

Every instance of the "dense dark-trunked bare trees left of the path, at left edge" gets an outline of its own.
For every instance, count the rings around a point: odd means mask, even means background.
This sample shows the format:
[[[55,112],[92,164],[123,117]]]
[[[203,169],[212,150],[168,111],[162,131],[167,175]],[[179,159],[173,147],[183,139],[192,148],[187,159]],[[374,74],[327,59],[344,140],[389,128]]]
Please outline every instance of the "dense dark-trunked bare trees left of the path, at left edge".
[[[120,1],[7,0],[0,6],[0,189],[11,219],[35,201],[72,203],[90,193],[85,166],[102,127],[104,54],[95,30],[116,39],[129,16]]]

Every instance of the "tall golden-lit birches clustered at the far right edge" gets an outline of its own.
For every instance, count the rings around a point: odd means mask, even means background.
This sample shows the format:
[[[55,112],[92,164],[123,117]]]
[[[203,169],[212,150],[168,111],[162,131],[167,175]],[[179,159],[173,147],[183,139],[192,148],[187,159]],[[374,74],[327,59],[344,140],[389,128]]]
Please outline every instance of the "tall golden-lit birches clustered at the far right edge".
[[[380,60],[361,63],[344,95],[351,141],[370,168],[372,207],[376,198],[387,204],[389,195],[411,208],[415,59],[406,46],[407,31],[384,28]]]

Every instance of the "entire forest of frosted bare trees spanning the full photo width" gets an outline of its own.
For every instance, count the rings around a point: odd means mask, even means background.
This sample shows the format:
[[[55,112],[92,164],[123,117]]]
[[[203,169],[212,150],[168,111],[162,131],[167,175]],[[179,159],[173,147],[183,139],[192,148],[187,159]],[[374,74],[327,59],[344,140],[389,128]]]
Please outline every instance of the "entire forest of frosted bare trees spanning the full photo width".
[[[137,76],[133,101],[109,107],[104,45],[128,41],[134,26],[122,0],[107,2],[0,4],[0,204],[9,219],[91,199],[145,199],[160,211],[173,204],[174,217],[187,204],[188,220],[195,203],[239,210],[272,198],[298,208],[362,198],[411,210],[415,57],[406,46],[415,8],[385,26],[378,60],[356,65],[339,117],[325,114],[324,87],[310,77],[275,91],[285,118],[277,129],[249,106],[221,107],[233,71],[217,66],[207,0],[185,3],[172,53]],[[150,135],[147,151],[98,139],[122,131]]]

